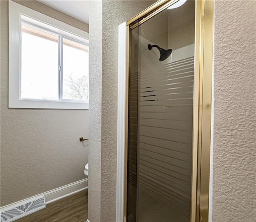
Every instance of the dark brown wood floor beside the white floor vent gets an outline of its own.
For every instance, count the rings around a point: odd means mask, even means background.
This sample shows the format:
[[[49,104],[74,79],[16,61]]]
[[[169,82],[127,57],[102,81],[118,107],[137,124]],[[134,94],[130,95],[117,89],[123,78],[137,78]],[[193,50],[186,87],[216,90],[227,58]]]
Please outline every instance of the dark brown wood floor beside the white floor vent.
[[[46,208],[16,222],[86,222],[88,193],[83,190],[46,205]]]

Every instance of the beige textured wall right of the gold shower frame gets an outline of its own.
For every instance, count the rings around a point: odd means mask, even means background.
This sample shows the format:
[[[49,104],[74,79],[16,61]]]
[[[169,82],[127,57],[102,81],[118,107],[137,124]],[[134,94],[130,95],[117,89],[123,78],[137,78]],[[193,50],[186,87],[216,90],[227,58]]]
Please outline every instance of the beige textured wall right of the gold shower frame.
[[[215,2],[214,222],[256,218],[256,2]]]

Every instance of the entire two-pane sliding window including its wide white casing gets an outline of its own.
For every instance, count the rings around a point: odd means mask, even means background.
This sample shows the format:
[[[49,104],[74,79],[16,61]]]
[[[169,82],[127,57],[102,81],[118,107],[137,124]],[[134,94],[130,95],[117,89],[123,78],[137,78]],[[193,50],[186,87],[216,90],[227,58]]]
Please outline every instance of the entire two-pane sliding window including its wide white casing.
[[[88,33],[9,1],[9,107],[88,109]]]

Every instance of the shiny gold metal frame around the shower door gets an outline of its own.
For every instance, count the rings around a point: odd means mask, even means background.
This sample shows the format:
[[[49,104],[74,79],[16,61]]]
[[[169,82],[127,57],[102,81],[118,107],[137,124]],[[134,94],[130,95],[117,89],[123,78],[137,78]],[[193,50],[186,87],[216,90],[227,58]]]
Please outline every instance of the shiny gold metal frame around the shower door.
[[[124,222],[127,201],[128,79],[130,30],[179,0],[159,0],[126,22],[126,138],[124,161]],[[191,222],[208,222],[212,111],[214,0],[195,0],[195,55],[192,141]],[[130,27],[130,24],[138,21]]]

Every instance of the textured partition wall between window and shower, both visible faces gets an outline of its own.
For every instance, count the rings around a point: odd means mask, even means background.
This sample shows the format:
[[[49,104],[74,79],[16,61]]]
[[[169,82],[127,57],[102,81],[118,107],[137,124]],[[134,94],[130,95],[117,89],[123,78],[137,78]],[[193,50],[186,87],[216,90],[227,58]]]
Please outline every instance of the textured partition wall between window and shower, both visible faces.
[[[89,145],[89,162],[93,165],[88,187],[90,222],[116,221],[118,25],[153,2],[110,0],[102,1],[102,5],[101,1],[90,2],[89,128],[90,138],[97,140]]]

